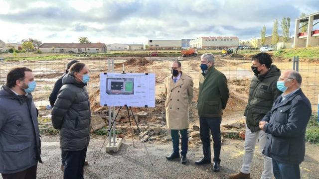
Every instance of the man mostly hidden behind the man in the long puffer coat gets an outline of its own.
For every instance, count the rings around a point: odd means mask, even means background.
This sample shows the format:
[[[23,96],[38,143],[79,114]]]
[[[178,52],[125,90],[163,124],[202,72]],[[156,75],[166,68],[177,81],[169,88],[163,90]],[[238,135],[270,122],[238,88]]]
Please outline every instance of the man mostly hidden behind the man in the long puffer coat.
[[[49,96],[49,101],[50,101],[50,105],[51,107],[53,107],[55,101],[56,101],[56,98],[58,97],[58,93],[59,93],[59,90],[61,89],[62,87],[62,79],[69,73],[69,69],[70,67],[75,64],[75,63],[78,63],[79,61],[78,60],[71,60],[67,65],[66,65],[66,70],[64,72],[64,74],[55,82],[54,84],[54,87],[53,87],[53,90]],[[65,155],[66,153],[61,150],[61,171],[64,170],[64,163],[65,163]]]

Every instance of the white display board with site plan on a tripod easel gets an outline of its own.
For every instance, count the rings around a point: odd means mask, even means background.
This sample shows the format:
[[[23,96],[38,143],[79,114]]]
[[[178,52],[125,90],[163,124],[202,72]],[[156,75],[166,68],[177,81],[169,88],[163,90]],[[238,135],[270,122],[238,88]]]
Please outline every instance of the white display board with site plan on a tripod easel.
[[[155,107],[155,74],[101,73],[100,104]]]

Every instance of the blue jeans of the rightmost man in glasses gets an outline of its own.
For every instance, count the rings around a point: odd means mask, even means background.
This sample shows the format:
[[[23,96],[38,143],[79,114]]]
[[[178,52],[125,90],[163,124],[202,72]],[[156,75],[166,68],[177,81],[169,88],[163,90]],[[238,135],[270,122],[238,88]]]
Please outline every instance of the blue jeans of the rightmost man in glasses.
[[[298,164],[285,164],[273,159],[273,170],[276,179],[300,179]]]

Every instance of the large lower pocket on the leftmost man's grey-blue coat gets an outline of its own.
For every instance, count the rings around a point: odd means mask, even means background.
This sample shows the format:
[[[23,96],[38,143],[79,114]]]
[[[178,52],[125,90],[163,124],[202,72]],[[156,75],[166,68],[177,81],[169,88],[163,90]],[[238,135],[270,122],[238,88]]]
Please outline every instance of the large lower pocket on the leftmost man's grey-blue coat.
[[[31,143],[3,146],[4,170],[16,170],[31,165]]]

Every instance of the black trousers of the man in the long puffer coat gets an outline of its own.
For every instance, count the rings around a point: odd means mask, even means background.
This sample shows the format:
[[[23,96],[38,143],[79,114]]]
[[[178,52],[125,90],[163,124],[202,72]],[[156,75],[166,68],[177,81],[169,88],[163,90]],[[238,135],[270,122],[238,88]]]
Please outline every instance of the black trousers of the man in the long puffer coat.
[[[80,151],[64,151],[64,179],[83,179],[83,168],[87,147]]]

